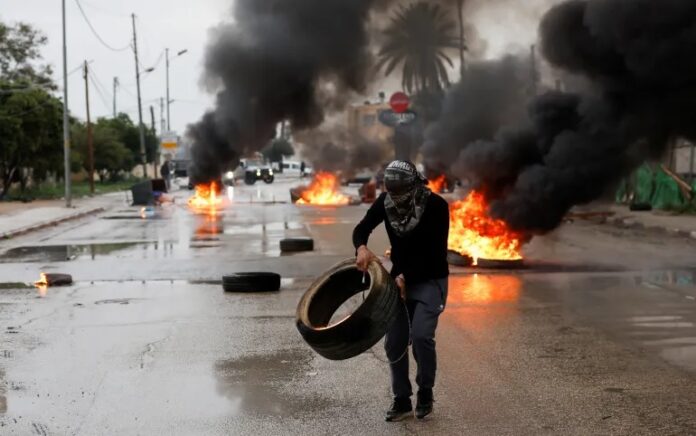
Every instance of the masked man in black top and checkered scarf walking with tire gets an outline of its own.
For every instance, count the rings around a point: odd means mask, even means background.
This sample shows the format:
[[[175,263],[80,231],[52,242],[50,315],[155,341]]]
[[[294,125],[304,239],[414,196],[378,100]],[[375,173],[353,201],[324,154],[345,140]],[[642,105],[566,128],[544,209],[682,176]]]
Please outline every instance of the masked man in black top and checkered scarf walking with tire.
[[[413,163],[392,162],[384,173],[387,192],[377,198],[353,231],[357,266],[365,271],[376,259],[367,248],[367,241],[384,221],[392,246],[391,275],[405,302],[405,310],[387,332],[384,342],[394,394],[387,421],[398,421],[413,413],[413,391],[408,376],[409,335],[418,365],[416,418],[423,419],[433,410],[437,366],[435,329],[447,301],[449,207],[426,183]]]

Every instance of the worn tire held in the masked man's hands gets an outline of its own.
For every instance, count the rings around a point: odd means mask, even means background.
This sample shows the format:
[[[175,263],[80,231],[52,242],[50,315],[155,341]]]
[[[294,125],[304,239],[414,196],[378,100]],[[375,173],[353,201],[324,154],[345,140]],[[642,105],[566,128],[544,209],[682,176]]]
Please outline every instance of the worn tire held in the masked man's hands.
[[[401,310],[399,291],[384,267],[373,262],[370,282],[355,260],[345,260],[319,277],[297,306],[297,329],[314,351],[330,360],[355,357],[379,342]],[[367,289],[366,289],[367,288]],[[331,318],[343,303],[365,290],[358,308],[337,322]]]

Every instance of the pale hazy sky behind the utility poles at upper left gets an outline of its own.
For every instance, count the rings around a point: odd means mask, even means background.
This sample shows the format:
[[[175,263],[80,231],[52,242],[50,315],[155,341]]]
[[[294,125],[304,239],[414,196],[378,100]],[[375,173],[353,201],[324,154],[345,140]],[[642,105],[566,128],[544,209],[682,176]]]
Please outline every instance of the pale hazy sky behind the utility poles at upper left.
[[[136,14],[138,49],[143,68],[156,69],[142,77],[143,120],[150,124],[150,105],[155,107],[159,132],[159,100],[165,95],[164,49],[170,54],[183,49],[188,53],[170,65],[172,129],[183,132],[211,106],[210,96],[198,86],[207,31],[229,17],[230,0],[80,0],[85,14],[97,33],[114,48],[126,47],[132,40],[131,13]],[[122,86],[117,107],[137,122],[135,61],[132,50],[114,52],[104,47],[90,31],[75,0],[66,0],[68,22],[68,71],[85,60],[101,93],[90,83],[90,107],[93,117],[112,113],[113,78]],[[62,89],[62,27],[60,0],[0,0],[0,19],[4,22],[31,23],[48,36],[43,50],[45,60],[54,67],[54,79]],[[162,56],[161,56],[162,55]],[[161,57],[160,57],[161,56]],[[157,61],[159,60],[159,63]],[[82,71],[69,76],[68,101],[73,115],[85,117],[85,89]]]

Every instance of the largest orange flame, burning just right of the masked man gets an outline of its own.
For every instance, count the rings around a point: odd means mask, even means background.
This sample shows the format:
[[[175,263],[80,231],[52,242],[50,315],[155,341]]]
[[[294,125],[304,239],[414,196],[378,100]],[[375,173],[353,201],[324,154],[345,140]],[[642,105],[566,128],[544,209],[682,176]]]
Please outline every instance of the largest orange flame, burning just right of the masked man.
[[[471,191],[462,201],[450,206],[450,250],[478,259],[518,260],[524,237],[507,223],[488,215],[488,203],[482,193]]]

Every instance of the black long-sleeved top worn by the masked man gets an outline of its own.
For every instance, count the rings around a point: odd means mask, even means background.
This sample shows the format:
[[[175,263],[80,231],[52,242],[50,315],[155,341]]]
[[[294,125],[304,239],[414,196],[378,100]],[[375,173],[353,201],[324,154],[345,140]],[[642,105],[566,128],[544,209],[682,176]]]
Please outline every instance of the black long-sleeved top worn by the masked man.
[[[410,233],[401,237],[387,220],[383,193],[370,207],[362,221],[353,230],[355,248],[367,245],[372,231],[384,221],[394,265],[392,277],[403,274],[406,283],[421,283],[442,279],[449,275],[447,265],[447,236],[449,234],[449,205],[437,194],[428,198],[420,222]]]

